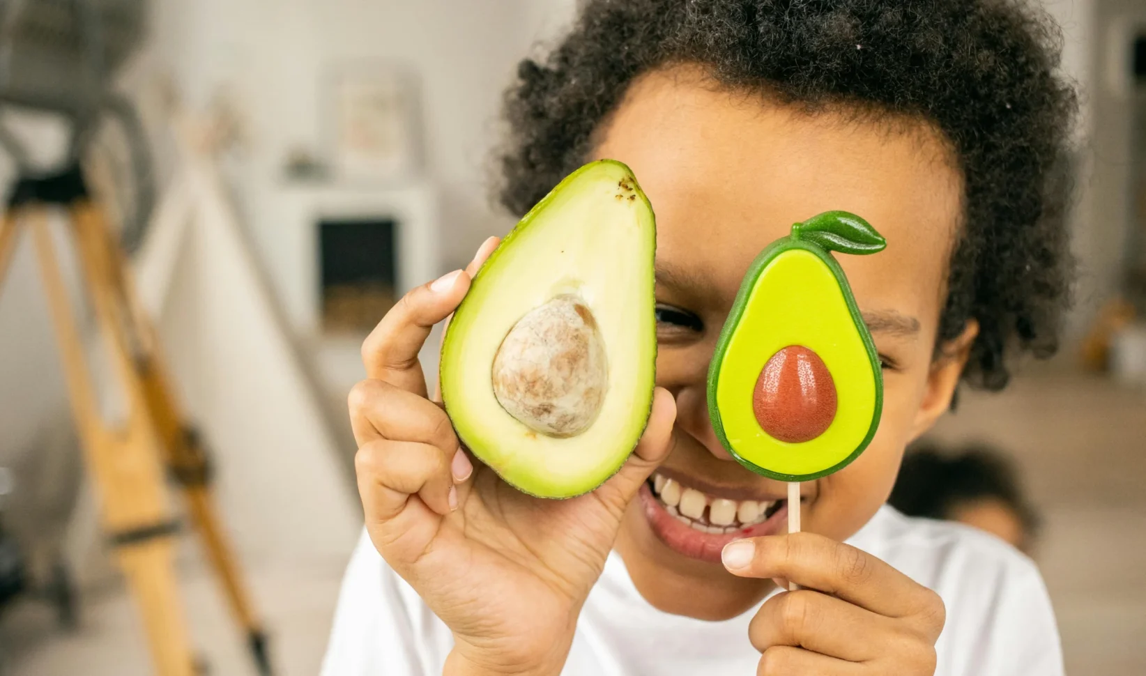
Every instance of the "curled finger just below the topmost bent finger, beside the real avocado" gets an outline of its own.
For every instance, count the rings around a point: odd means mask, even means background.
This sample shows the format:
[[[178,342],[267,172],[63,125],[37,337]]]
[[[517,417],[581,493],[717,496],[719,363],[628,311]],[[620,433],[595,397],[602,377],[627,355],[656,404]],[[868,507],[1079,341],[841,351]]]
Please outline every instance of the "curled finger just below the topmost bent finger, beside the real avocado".
[[[449,416],[427,399],[383,380],[362,380],[347,400],[359,446],[378,439],[417,441],[453,458],[460,448]]]

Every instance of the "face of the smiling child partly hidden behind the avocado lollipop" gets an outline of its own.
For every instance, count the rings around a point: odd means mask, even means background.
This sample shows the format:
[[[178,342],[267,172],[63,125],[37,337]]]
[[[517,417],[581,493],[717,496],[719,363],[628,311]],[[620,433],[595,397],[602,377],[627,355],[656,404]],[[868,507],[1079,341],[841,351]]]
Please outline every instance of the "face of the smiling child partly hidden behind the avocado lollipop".
[[[657,213],[657,383],[678,410],[660,474],[701,490],[708,504],[785,497],[783,482],[731,459],[706,407],[708,362],[749,262],[793,222],[829,210],[857,213],[887,238],[879,254],[837,257],[886,364],[879,432],[848,467],[802,486],[804,529],[854,534],[890,493],[904,446],[947,409],[974,336],[970,327],[949,346],[953,357],[933,359],[960,214],[961,179],[947,147],[920,124],[808,117],[678,68],[634,84],[594,155],[627,163]],[[685,525],[642,493],[617,548],[650,603],[720,619],[769,590],[770,581],[721,566],[735,535]],[[752,534],[784,528],[779,513]]]

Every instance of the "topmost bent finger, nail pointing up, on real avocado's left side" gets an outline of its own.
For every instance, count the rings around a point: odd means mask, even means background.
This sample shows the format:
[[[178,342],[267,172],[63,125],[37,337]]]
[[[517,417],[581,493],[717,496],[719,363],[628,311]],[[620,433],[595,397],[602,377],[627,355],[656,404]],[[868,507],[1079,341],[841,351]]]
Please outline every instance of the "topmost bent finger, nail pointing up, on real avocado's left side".
[[[367,377],[425,396],[418,351],[433,325],[454,312],[469,289],[465,270],[454,270],[403,296],[362,344]]]

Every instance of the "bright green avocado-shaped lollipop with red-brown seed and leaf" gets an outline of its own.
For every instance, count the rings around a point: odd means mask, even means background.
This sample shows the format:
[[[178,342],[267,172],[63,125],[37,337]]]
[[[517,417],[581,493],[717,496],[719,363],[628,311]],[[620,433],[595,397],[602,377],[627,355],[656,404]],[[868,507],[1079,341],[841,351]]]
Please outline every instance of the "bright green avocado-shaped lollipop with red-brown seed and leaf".
[[[874,437],[879,356],[831,252],[885,246],[862,218],[831,211],[792,226],[748,268],[709,365],[708,412],[721,443],[753,472],[816,479]]]

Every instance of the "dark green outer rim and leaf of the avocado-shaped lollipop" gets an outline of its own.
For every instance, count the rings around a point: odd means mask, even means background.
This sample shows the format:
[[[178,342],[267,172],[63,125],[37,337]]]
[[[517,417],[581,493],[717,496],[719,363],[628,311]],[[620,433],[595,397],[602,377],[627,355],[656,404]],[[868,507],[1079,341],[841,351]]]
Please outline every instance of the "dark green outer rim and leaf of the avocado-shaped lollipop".
[[[816,243],[816,241],[811,241],[810,237],[801,233],[802,225],[810,226],[817,219],[823,221],[825,217],[838,217],[838,214],[842,214],[843,217],[849,217],[850,219],[858,220],[861,223],[866,226],[866,223],[862,219],[858,219],[858,217],[854,217],[851,214],[847,214],[846,212],[827,212],[825,214],[819,214],[817,217],[814,217],[813,219],[808,219],[808,221],[804,221],[804,223],[796,223],[795,226],[793,226],[791,235],[772,242],[763,251],[761,251],[759,256],[756,256],[756,258],[752,261],[752,265],[748,267],[748,272],[744,276],[744,281],[740,283],[740,289],[737,292],[736,300],[733,301],[732,309],[729,312],[728,319],[724,322],[724,327],[721,329],[720,338],[717,339],[716,343],[716,349],[713,353],[713,359],[708,367],[708,383],[707,383],[708,415],[712,420],[713,430],[716,432],[716,438],[720,439],[720,442],[724,447],[724,449],[728,450],[729,454],[731,454],[732,457],[735,457],[737,462],[739,462],[741,465],[744,465],[745,467],[758,474],[769,477],[771,479],[777,479],[779,481],[810,481],[813,479],[826,477],[827,474],[837,472],[847,466],[848,464],[850,464],[855,458],[859,457],[859,454],[862,454],[864,449],[868,448],[868,445],[871,443],[872,438],[876,435],[876,431],[879,429],[879,422],[884,408],[884,380],[882,380],[882,369],[880,367],[880,361],[879,361],[879,354],[876,351],[876,344],[872,341],[871,333],[868,331],[868,327],[864,323],[862,315],[859,314],[859,308],[856,306],[855,297],[851,294],[851,288],[848,284],[847,276],[845,276],[843,269],[840,267],[839,262],[835,261],[832,254],[827,250],[825,250],[824,246],[821,246],[819,244]],[[868,228],[870,228],[870,226],[868,226]],[[847,233],[847,235],[850,235],[853,239],[841,242],[839,245],[833,247],[838,250],[846,250],[848,253],[864,254],[864,253],[874,253],[877,251],[880,251],[884,249],[885,245],[882,237],[880,237],[878,233],[874,233],[873,229],[871,229],[870,234],[866,234],[866,236],[856,237],[856,234],[853,231]],[[856,243],[854,241],[857,238],[861,239],[859,243]],[[840,237],[833,237],[833,239],[840,239]],[[870,241],[864,242],[863,239],[870,239]],[[833,245],[835,244],[834,241],[829,242],[825,238],[818,238],[817,241],[830,243]],[[808,251],[815,254],[817,258],[819,258],[819,260],[822,260],[824,265],[826,265],[827,268],[832,272],[832,275],[834,275],[835,281],[840,286],[840,290],[843,292],[843,299],[847,302],[848,312],[851,315],[850,316],[851,324],[854,325],[855,330],[859,335],[861,340],[863,341],[865,352],[868,354],[870,368],[876,377],[876,406],[872,415],[871,426],[869,427],[866,435],[856,446],[855,450],[853,450],[846,458],[819,472],[814,472],[810,474],[783,474],[758,466],[755,463],[741,457],[736,451],[736,449],[732,448],[732,445],[729,442],[728,437],[724,432],[724,425],[721,420],[720,408],[716,404],[716,385],[720,382],[721,367],[724,363],[724,357],[727,356],[729,343],[731,341],[732,335],[736,331],[740,317],[744,316],[744,313],[747,309],[748,299],[752,294],[753,289],[756,285],[758,280],[760,278],[761,273],[763,273],[763,270],[768,267],[768,264],[770,264],[777,257],[783,256],[786,252],[798,251],[798,250]]]

